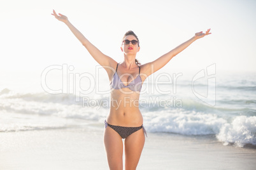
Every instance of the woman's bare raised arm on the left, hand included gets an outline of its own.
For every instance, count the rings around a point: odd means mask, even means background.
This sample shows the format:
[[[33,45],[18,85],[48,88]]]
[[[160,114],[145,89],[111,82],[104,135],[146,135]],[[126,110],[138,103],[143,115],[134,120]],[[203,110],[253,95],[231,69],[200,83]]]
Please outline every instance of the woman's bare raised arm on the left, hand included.
[[[74,25],[71,24],[71,22],[69,22],[67,16],[62,15],[60,13],[59,13],[59,15],[57,15],[57,13],[54,10],[53,10],[52,15],[55,16],[55,18],[57,20],[64,22],[69,27],[71,32],[73,32],[73,34],[76,36],[76,38],[89,51],[90,55],[92,55],[92,57],[96,60],[96,62],[98,62],[100,65],[102,65],[104,67],[104,69],[106,69],[106,66],[110,66],[113,68],[116,67],[117,62],[115,62],[115,60],[113,60],[111,57],[104,55],[101,51],[99,51],[99,49],[96,48],[96,46],[94,46],[92,43],[90,43],[90,41],[88,39],[86,39],[85,36],[83,36],[83,34],[78,29],[76,29],[76,27],[74,27]],[[108,69],[106,71],[109,72],[110,70]]]

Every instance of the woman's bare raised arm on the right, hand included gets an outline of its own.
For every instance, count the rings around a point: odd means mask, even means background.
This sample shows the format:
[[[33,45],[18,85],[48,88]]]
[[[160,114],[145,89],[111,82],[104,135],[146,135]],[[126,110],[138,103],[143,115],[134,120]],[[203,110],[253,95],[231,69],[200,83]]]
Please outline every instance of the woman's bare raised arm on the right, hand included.
[[[157,70],[159,70],[162,67],[164,67],[164,65],[166,65],[171,60],[171,58],[173,58],[174,56],[178,55],[178,53],[180,53],[185,48],[187,48],[190,44],[192,44],[192,42],[194,42],[197,39],[202,38],[202,37],[204,37],[206,35],[211,34],[210,30],[211,29],[208,29],[205,32],[205,34],[203,33],[203,31],[197,32],[195,34],[195,36],[192,37],[191,39],[188,39],[188,41],[183,42],[182,44],[180,44],[180,46],[177,46],[173,50],[169,51],[169,53],[166,53],[165,55],[160,56],[159,58],[157,58],[157,60],[155,60],[153,62],[150,62],[150,63],[146,63],[145,65],[143,65],[143,67],[145,67],[145,68],[141,68],[141,69],[145,70],[144,73],[146,75],[150,75],[153,72],[156,72]]]

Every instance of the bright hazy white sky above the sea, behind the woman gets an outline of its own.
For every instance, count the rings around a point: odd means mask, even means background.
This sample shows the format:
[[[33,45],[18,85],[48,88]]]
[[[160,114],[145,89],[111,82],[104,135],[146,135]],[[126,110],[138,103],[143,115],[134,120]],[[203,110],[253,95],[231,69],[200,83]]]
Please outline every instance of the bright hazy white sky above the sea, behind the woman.
[[[0,77],[41,76],[51,65],[73,66],[76,72],[94,72],[97,63],[62,22],[51,15],[68,16],[92,44],[117,62],[122,37],[133,30],[139,37],[141,63],[155,60],[194,36],[162,72],[198,72],[210,65],[216,71],[255,72],[256,1],[0,1]]]

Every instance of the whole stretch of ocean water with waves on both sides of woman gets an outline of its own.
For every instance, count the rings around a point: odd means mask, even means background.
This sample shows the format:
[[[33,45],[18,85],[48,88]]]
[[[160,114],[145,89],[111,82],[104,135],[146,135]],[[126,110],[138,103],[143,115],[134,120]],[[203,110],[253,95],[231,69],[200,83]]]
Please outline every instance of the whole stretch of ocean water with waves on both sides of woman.
[[[139,108],[146,131],[256,145],[256,74],[200,74],[160,73],[145,81]],[[111,105],[107,79],[47,76],[1,77],[0,133],[104,127]]]

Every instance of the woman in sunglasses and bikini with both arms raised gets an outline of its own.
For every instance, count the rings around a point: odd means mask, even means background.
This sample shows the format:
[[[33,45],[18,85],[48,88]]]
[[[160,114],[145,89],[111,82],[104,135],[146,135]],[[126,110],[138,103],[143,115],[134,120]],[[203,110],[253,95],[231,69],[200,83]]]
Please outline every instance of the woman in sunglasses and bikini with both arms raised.
[[[194,37],[180,46],[169,51],[157,60],[140,65],[136,60],[139,52],[139,39],[134,32],[125,34],[121,46],[124,52],[124,61],[117,63],[106,56],[83,34],[77,30],[68,20],[67,16],[53,14],[57,20],[66,23],[73,34],[82,42],[90,55],[104,67],[111,82],[111,106],[110,114],[105,121],[104,145],[110,169],[123,169],[123,142],[125,147],[125,169],[136,169],[139,157],[145,143],[145,129],[143,128],[143,117],[139,111],[139,92],[141,85],[153,72],[161,69],[171,58],[187,48],[192,42],[210,33],[210,29],[197,32]],[[113,71],[114,70],[114,71]]]

